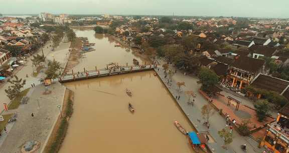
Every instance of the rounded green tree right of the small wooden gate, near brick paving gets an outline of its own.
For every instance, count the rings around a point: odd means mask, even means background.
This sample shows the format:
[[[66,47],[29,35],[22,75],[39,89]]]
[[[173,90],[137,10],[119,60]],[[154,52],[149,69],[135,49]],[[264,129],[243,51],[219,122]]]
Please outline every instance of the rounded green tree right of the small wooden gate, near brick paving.
[[[258,117],[258,121],[262,122],[266,116],[268,115],[269,111],[269,103],[267,100],[258,100],[254,107],[256,108],[256,113]]]

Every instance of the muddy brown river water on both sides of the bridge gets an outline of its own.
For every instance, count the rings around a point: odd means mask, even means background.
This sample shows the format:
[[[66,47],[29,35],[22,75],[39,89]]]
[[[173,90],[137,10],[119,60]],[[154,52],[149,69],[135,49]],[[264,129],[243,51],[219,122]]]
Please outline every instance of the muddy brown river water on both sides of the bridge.
[[[111,50],[114,42],[107,37],[95,38],[92,30],[76,31],[76,34],[104,43],[97,46],[112,46],[97,50],[95,54],[103,54],[103,59],[87,54],[88,67],[115,60],[124,63],[135,58],[125,49]],[[115,52],[117,57],[112,56]],[[60,153],[194,152],[188,138],[175,127],[174,121],[179,121],[188,131],[193,127],[161,80],[154,76],[154,71],[70,82],[65,86],[74,91],[75,101]],[[126,88],[131,90],[132,97],[127,96]],[[133,114],[128,110],[128,103],[135,109]]]

